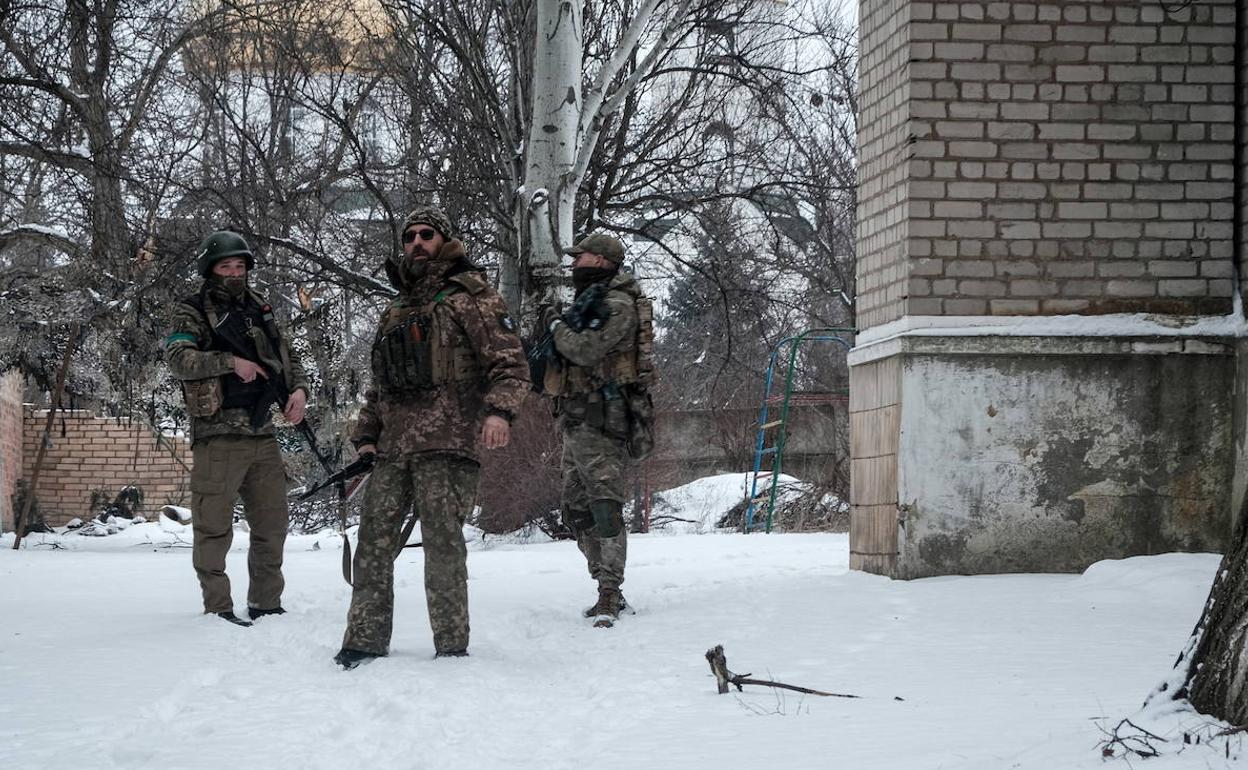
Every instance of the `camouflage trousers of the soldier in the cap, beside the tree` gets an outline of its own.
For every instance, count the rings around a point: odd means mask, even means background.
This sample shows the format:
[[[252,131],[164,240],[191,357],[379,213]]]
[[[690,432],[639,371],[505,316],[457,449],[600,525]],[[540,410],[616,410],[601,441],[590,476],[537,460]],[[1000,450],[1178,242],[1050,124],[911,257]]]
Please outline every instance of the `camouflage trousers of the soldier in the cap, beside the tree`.
[[[620,510],[626,465],[623,438],[585,423],[563,423],[563,523],[599,588],[618,589],[624,583],[628,528]]]

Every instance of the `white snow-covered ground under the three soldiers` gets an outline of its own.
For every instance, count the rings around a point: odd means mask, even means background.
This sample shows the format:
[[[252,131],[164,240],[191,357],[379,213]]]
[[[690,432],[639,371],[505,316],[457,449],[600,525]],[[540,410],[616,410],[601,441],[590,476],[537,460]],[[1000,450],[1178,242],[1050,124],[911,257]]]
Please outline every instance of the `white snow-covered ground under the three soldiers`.
[[[716,515],[690,492],[669,499]],[[177,529],[34,535],[20,552],[0,538],[0,768],[1104,768],[1101,725],[1167,675],[1218,564],[894,582],[849,572],[844,534],[651,534],[629,544],[638,613],[594,629],[572,543],[477,538],[470,658],[433,660],[409,549],[391,656],[342,671],[334,535],[291,538],[290,613],[243,629],[198,614]],[[230,563],[240,610],[246,543]],[[861,698],[719,695],[715,644],[734,671]],[[1181,724],[1196,720],[1148,726]],[[1236,766],[1241,739],[1229,748],[1147,768]]]

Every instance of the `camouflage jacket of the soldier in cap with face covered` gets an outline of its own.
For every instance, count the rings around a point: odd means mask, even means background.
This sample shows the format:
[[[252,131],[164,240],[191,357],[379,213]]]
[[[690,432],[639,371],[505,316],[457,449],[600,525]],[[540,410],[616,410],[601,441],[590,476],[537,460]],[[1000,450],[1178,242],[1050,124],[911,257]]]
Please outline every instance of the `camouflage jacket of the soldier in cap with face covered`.
[[[602,326],[575,332],[567,323],[555,324],[555,351],[570,364],[564,367],[560,401],[584,397],[588,391],[609,382],[623,384],[613,362],[631,363],[636,352],[636,298],[640,295],[633,273],[622,270],[607,286],[603,297],[607,321]]]

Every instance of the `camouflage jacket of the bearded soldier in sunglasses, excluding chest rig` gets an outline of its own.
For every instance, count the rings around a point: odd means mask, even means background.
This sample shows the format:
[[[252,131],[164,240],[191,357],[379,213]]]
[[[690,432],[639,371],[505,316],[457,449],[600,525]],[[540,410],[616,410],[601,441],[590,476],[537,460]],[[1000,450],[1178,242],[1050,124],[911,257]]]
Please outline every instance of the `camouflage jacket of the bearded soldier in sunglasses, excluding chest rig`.
[[[528,361],[507,305],[458,240],[443,246],[416,286],[404,285],[393,265],[387,273],[401,295],[382,313],[374,348],[413,312],[428,308],[436,344],[466,352],[477,376],[396,394],[379,388],[373,372],[351,442],[376,444],[382,457],[431,452],[477,459],[485,417],[512,421],[529,389]]]

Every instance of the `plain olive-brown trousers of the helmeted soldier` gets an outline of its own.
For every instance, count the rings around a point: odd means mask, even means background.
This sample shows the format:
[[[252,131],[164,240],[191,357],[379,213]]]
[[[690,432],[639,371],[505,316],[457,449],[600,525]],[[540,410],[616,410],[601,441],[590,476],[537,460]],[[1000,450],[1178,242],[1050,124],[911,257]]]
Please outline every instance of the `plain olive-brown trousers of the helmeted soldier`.
[[[213,436],[195,442],[191,469],[191,563],[203,592],[203,612],[233,610],[226,554],[233,542],[233,504],[242,497],[251,529],[247,607],[282,603],[282,548],[290,513],[286,467],[272,436]]]

